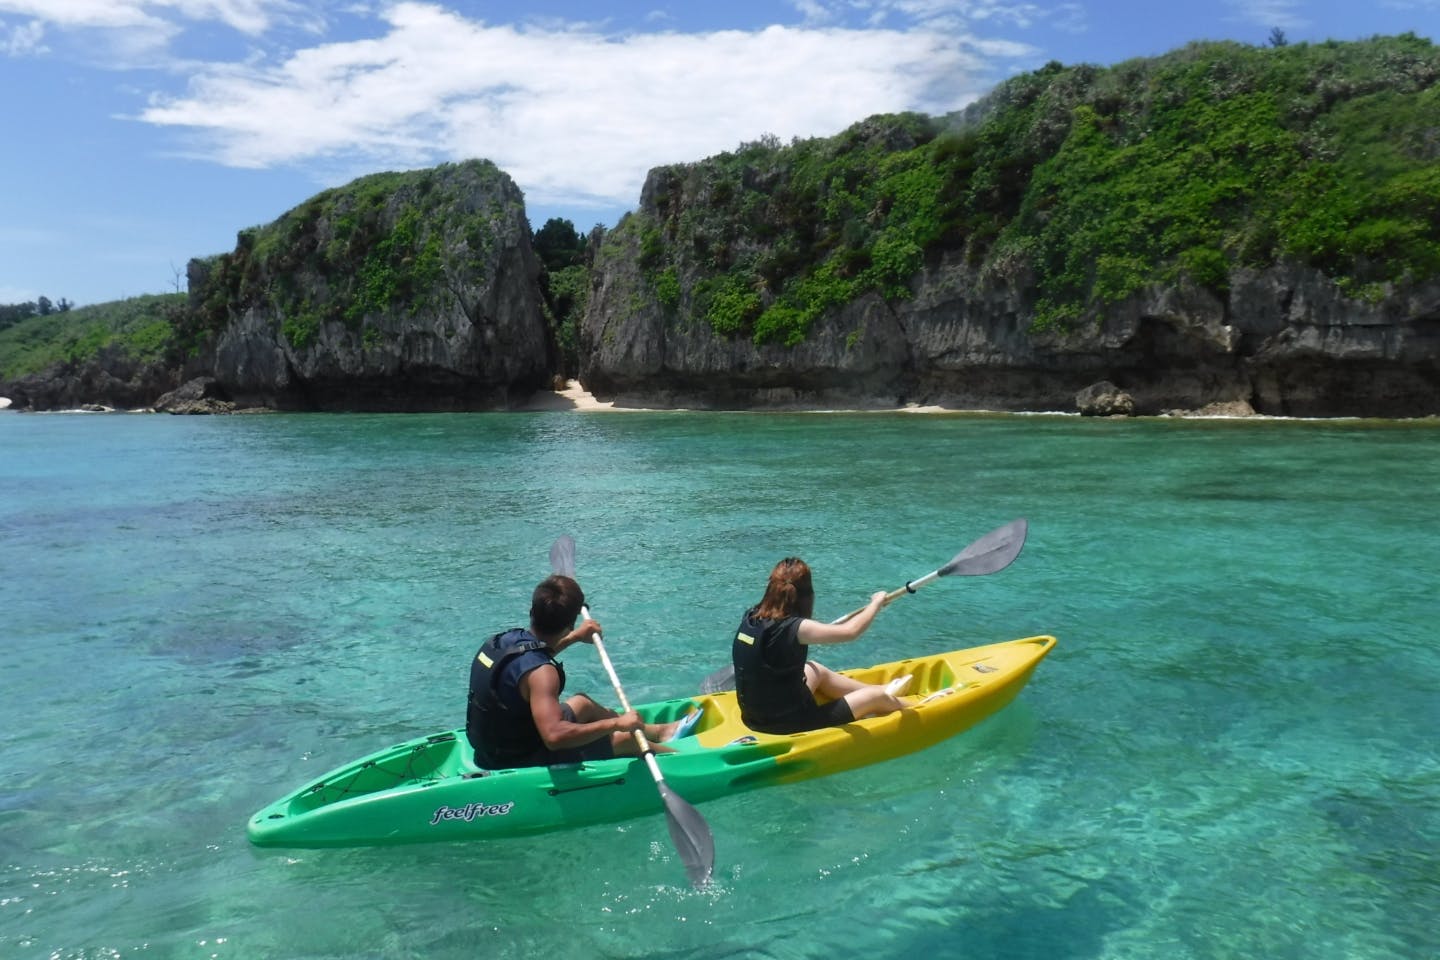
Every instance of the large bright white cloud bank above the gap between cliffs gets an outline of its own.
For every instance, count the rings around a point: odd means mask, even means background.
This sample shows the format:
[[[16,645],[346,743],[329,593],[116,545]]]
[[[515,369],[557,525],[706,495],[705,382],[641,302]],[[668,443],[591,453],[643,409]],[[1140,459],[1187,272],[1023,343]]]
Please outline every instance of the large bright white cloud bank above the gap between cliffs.
[[[963,107],[1015,43],[927,27],[608,36],[488,26],[428,3],[373,39],[210,66],[141,119],[235,167],[346,170],[487,157],[533,201],[632,204],[645,171],[760,134],[829,135],[876,112]]]

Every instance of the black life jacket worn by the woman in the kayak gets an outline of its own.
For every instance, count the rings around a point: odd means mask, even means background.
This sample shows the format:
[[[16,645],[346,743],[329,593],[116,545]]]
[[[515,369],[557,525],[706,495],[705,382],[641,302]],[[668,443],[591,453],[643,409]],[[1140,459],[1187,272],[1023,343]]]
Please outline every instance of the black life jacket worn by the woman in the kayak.
[[[815,695],[805,685],[809,648],[799,640],[801,619],[762,620],[752,609],[740,620],[730,656],[740,720],[752,730],[783,725],[814,710]]]

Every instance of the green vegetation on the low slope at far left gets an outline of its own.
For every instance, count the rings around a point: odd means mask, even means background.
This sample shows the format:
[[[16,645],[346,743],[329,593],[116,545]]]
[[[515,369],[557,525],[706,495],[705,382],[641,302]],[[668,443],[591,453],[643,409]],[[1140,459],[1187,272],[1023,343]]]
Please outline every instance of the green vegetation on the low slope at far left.
[[[32,315],[0,330],[0,380],[95,360],[171,360],[183,294],[158,294]]]

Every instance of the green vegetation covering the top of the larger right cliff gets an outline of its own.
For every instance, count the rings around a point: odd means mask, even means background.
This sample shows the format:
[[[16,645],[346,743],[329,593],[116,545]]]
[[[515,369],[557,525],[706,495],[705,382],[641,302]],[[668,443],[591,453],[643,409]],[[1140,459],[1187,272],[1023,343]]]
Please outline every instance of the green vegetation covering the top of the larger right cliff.
[[[1277,262],[1380,296],[1440,273],[1437,79],[1440,50],[1411,35],[1050,63],[953,117],[657,170],[612,243],[655,302],[757,343],[904,298],[946,253],[1032,285],[1038,328]]]

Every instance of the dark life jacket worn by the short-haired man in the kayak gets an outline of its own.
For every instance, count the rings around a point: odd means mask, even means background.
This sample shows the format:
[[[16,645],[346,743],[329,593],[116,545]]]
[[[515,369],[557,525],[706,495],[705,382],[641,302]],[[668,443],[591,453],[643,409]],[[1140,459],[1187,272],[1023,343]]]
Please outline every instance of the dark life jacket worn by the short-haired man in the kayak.
[[[477,764],[498,770],[533,763],[546,748],[530,704],[520,695],[520,679],[547,664],[559,671],[563,691],[564,668],[530,630],[505,630],[481,645],[469,664],[465,710],[465,735],[475,748]]]

